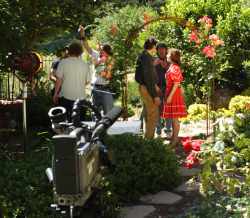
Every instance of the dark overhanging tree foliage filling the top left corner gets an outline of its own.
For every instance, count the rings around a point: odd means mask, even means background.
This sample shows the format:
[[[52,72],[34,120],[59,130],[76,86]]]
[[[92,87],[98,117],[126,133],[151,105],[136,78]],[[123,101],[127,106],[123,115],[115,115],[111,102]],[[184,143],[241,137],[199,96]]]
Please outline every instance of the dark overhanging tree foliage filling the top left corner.
[[[93,23],[109,7],[112,10],[106,1],[92,0],[1,0],[0,54],[34,49],[40,42],[76,32],[79,23]]]

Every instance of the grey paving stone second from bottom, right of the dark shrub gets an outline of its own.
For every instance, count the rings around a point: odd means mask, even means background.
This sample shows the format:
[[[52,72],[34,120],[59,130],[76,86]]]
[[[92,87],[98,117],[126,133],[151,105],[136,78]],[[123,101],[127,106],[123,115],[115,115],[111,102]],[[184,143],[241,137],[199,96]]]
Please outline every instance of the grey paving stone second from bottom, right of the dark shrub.
[[[167,192],[160,191],[155,195],[145,195],[140,198],[142,202],[150,203],[150,204],[168,204],[172,205],[179,202],[182,199],[180,195]]]

